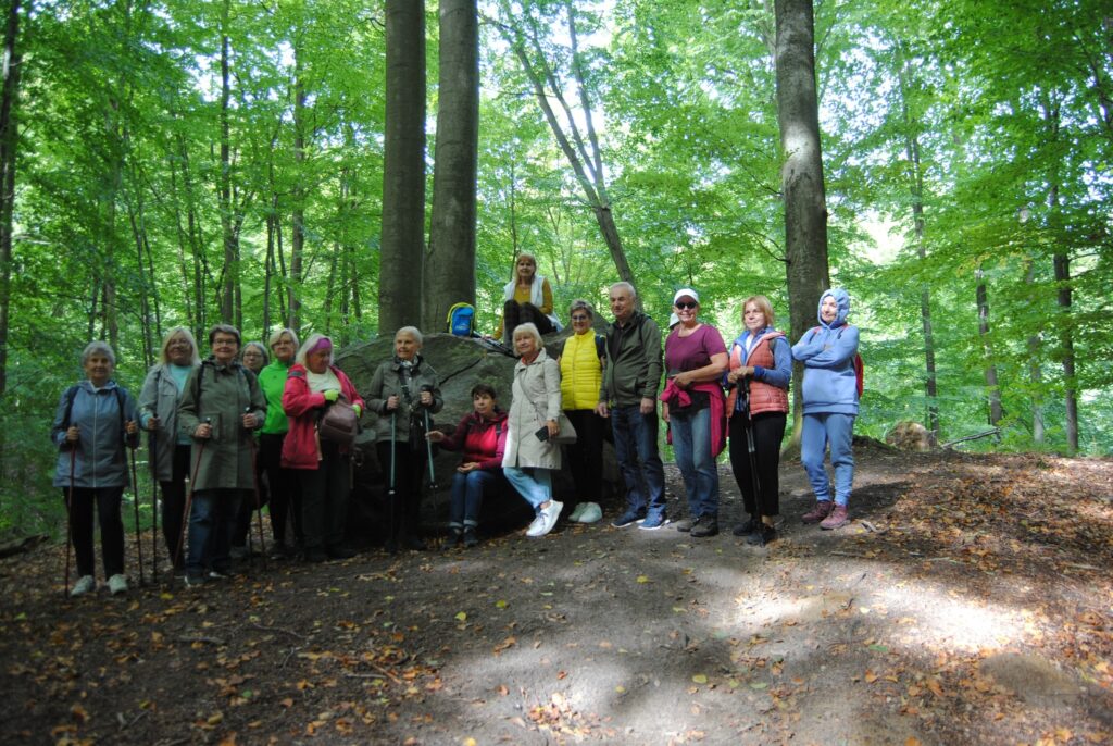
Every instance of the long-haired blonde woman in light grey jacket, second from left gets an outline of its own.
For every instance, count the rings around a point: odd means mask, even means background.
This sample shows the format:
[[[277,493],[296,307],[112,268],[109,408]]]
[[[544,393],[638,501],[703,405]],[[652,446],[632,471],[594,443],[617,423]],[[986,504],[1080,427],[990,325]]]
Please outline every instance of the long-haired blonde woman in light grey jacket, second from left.
[[[178,403],[189,374],[201,364],[197,342],[185,326],[162,337],[159,362],[147,371],[139,392],[139,422],[150,433],[150,464],[162,491],[162,538],[175,570],[181,570],[181,522],[193,440],[178,429]]]

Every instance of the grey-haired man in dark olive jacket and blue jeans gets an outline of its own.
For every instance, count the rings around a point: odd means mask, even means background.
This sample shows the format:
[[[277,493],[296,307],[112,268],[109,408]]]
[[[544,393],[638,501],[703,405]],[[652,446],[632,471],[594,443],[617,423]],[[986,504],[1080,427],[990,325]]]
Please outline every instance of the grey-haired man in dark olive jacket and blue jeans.
[[[627,510],[611,526],[668,522],[664,468],[657,449],[657,393],[661,385],[661,330],[634,307],[630,283],[611,285],[614,323],[607,327],[607,366],[595,412],[611,419],[614,452],[627,487]]]

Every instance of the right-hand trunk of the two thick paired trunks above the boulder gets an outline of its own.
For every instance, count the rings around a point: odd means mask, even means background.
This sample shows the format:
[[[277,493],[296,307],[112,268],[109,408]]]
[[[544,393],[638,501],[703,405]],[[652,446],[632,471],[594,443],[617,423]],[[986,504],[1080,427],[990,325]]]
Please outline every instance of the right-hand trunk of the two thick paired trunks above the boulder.
[[[476,0],[441,0],[441,80],[423,326],[440,331],[453,303],[475,303],[475,171],[480,132]]]

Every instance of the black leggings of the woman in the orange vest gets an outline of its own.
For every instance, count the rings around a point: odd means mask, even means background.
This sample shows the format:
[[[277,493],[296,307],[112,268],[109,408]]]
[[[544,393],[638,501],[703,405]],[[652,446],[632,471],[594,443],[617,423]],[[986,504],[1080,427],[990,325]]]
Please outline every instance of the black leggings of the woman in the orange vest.
[[[746,512],[750,516],[780,514],[780,478],[777,470],[780,467],[780,441],[785,438],[786,419],[784,412],[762,412],[754,416],[754,462],[760,488],[755,495],[747,439],[749,418],[740,412],[730,418],[730,469],[735,472]]]

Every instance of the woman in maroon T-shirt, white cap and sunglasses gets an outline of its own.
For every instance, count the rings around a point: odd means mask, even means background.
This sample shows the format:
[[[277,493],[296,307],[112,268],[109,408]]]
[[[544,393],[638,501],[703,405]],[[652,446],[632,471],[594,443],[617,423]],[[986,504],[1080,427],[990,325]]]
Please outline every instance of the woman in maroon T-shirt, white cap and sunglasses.
[[[726,445],[719,379],[727,370],[727,345],[718,330],[699,321],[696,291],[677,291],[672,311],[680,323],[664,341],[669,381],[661,393],[661,419],[669,423],[688,493],[689,518],[680,521],[677,530],[697,538],[713,537],[719,532],[719,469],[715,459]]]

